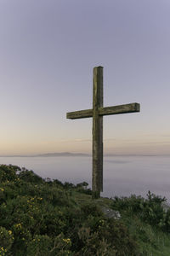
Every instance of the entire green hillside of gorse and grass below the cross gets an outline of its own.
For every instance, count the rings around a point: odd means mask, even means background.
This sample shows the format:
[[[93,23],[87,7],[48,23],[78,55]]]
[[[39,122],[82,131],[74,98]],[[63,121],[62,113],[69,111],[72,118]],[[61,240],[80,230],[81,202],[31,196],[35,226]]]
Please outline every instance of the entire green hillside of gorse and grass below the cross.
[[[0,256],[170,255],[165,198],[93,200],[87,185],[0,165]]]

